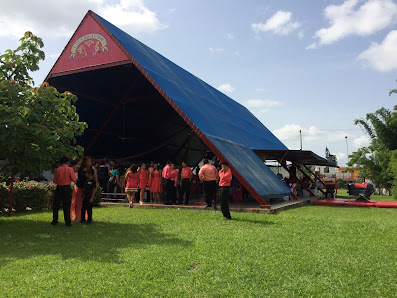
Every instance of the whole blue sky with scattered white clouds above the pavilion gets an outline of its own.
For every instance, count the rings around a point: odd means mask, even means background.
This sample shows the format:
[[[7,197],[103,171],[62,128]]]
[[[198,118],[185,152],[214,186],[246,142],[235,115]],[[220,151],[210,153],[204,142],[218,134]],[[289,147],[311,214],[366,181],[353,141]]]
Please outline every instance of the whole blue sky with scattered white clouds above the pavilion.
[[[392,0],[16,0],[0,3],[0,52],[41,36],[41,82],[88,9],[247,106],[290,149],[340,165],[368,144],[354,119],[397,97]]]

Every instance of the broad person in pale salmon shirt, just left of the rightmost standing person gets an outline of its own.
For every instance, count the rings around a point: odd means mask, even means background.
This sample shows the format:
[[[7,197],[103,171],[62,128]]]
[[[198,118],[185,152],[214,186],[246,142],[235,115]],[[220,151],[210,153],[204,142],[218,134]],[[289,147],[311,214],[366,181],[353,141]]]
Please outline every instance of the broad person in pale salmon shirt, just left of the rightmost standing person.
[[[208,163],[208,159],[204,159],[203,164],[199,172],[199,178],[203,181],[203,190],[207,203],[204,208],[213,206],[214,209],[216,209],[216,184],[219,178],[218,170]],[[212,205],[212,202],[214,205]]]

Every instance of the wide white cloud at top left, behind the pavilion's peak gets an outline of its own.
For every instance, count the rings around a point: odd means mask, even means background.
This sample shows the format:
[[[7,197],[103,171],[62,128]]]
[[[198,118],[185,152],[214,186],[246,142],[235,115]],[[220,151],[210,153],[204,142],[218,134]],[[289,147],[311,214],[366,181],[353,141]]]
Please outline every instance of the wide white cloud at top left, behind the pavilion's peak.
[[[104,0],[15,0],[0,1],[0,37],[20,38],[25,31],[42,38],[70,37],[89,9],[131,34],[165,28],[143,0],[112,5]]]

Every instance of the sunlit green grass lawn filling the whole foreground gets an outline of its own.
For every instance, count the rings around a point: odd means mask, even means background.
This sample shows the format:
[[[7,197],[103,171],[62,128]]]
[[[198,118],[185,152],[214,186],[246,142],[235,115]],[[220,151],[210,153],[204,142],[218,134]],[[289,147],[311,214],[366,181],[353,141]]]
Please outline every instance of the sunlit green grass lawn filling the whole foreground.
[[[0,217],[0,296],[339,296],[397,293],[397,209],[305,206],[275,215],[94,209]]]

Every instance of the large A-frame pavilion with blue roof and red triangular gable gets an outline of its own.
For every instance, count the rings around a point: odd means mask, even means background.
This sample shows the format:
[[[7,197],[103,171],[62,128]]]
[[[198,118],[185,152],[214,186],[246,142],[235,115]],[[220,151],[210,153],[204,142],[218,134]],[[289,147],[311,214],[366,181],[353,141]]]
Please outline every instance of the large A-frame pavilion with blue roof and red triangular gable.
[[[89,156],[195,166],[212,152],[261,206],[291,193],[258,156],[288,148],[248,109],[92,11],[46,81],[78,96]]]

